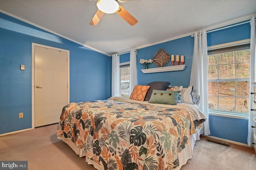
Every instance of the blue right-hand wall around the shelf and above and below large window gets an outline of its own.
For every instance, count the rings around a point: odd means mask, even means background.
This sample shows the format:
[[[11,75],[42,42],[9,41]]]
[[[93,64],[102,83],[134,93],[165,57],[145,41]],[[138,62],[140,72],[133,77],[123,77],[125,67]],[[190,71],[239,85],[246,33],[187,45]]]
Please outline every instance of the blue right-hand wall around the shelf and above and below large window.
[[[243,39],[250,39],[250,23],[207,33],[208,46],[229,43]],[[154,54],[160,48],[164,49],[170,55],[184,55],[184,64],[186,64],[185,70],[143,74],[141,69],[144,69],[144,67],[142,64],[140,64],[140,59],[152,59]],[[138,84],[146,85],[152,81],[169,81],[171,83],[170,85],[172,86],[189,86],[192,57],[194,51],[194,37],[188,36],[175,39],[158,45],[152,45],[150,47],[138,49],[137,51]],[[172,63],[169,62],[167,66],[170,66],[171,64]],[[156,67],[157,66],[154,63],[150,65],[150,68]],[[247,143],[248,120],[210,115],[209,121],[212,136],[240,143]]]

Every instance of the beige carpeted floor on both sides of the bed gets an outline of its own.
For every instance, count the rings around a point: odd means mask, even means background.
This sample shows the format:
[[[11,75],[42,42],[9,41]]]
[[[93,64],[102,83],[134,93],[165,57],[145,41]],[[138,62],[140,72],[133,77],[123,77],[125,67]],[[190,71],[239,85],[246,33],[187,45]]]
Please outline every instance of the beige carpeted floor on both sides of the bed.
[[[58,124],[0,137],[0,160],[28,160],[29,170],[95,170],[57,139]],[[181,170],[256,170],[254,149],[196,141],[193,158]]]

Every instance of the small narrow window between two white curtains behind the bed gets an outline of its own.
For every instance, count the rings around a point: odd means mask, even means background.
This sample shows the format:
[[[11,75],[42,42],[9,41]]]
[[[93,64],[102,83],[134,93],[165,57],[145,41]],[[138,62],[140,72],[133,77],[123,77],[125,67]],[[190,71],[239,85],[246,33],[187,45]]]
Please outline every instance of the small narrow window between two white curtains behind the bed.
[[[120,94],[129,97],[130,64],[120,63]]]

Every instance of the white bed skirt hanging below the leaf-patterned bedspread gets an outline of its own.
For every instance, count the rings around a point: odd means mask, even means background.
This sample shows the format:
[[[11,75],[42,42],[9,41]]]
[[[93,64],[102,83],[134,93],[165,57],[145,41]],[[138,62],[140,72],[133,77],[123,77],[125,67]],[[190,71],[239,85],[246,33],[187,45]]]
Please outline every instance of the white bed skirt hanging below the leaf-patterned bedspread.
[[[72,148],[74,150],[74,152],[76,154],[78,154],[80,157],[83,157],[86,155],[84,150],[79,149],[72,141],[64,138],[63,135],[58,135],[57,138],[64,141],[66,144],[68,144],[68,146],[70,148]],[[186,164],[187,160],[192,158],[194,145],[195,145],[196,141],[199,139],[200,139],[199,133],[190,135],[189,140],[188,140],[188,145],[179,154],[180,165],[175,170],[180,170],[182,165]],[[88,164],[92,164],[94,166],[94,168],[96,168],[98,170],[102,170],[102,168],[100,166],[98,166],[98,164],[94,163],[94,161],[88,159],[87,157],[85,158],[85,160]]]

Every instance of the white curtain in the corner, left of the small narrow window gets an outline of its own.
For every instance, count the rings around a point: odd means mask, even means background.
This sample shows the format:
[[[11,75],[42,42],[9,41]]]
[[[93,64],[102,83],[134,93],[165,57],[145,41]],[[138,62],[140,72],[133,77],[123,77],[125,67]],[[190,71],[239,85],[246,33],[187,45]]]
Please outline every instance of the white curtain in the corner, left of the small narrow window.
[[[112,96],[120,96],[120,58],[112,55]]]

